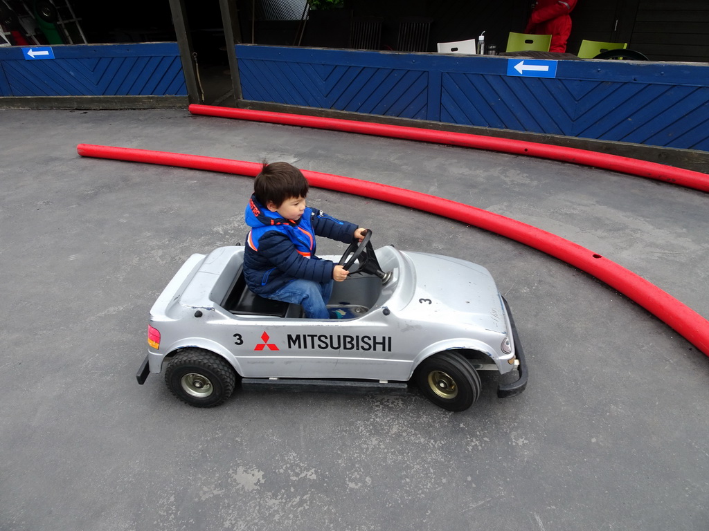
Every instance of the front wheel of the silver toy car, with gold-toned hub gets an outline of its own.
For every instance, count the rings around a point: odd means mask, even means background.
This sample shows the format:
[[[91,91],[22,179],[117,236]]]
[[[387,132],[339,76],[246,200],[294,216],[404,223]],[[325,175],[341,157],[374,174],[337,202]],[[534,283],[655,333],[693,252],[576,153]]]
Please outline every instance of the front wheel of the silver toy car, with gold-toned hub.
[[[415,372],[421,392],[448,411],[464,411],[480,395],[480,377],[475,367],[461,355],[440,353],[421,362]]]

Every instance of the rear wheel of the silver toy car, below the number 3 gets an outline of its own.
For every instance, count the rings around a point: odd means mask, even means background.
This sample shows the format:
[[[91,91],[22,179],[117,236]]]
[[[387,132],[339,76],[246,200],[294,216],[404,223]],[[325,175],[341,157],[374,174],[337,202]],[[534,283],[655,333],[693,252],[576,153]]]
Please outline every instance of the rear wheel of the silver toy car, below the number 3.
[[[165,383],[186,404],[211,408],[234,392],[236,373],[224,358],[208,350],[185,348],[167,366]]]

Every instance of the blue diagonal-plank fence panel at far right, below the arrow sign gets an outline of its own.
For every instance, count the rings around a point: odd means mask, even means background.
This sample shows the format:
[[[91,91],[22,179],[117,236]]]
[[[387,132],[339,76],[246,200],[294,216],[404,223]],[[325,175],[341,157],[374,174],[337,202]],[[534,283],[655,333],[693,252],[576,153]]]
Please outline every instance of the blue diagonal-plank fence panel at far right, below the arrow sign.
[[[707,151],[708,101],[709,87],[443,74],[440,120]]]

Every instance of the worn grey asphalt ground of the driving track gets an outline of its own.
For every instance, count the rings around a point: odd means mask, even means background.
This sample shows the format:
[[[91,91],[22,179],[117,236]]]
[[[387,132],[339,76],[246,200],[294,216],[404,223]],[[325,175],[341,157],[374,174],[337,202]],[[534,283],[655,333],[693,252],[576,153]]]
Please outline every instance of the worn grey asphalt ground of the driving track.
[[[303,169],[450,198],[559,234],[709,316],[709,198],[554,161],[190,115],[0,111],[0,530],[707,530],[709,358],[602,282],[423,212],[313,189],[376,246],[491,270],[530,381],[468,411],[418,393],[143,387],[152,302],[244,241],[252,179],[77,155],[79,143]],[[340,244],[318,242],[321,254]],[[441,278],[445,282],[445,278]]]

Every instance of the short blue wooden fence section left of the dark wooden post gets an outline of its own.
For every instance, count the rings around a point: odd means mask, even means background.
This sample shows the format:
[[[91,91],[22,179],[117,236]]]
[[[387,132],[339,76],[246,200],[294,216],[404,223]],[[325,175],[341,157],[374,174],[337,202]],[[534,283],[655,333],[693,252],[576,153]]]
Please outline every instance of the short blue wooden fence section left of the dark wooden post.
[[[176,42],[0,47],[0,96],[186,95]]]

